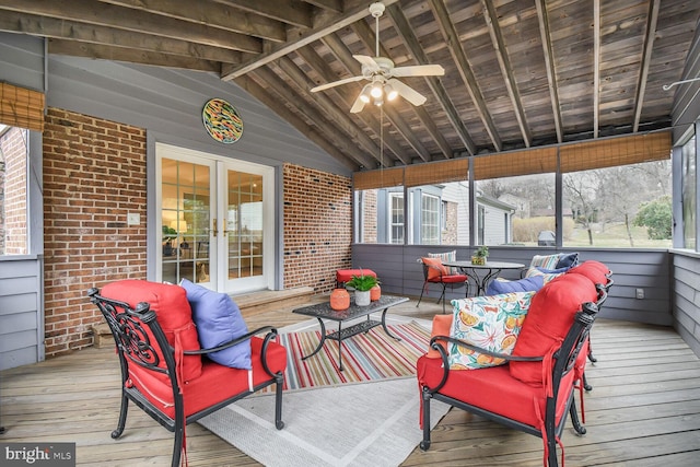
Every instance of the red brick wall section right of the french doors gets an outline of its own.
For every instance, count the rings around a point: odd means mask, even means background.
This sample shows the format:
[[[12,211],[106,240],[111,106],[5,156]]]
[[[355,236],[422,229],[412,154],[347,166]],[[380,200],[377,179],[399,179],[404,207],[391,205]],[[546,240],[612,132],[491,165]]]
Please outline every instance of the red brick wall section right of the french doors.
[[[352,262],[349,177],[284,164],[284,288],[335,289]]]

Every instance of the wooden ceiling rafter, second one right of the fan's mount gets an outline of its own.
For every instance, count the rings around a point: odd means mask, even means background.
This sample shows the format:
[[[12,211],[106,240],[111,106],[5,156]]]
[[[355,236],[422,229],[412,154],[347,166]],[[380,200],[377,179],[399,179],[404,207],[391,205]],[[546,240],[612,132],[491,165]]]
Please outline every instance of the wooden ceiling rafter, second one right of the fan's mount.
[[[486,100],[483,98],[483,95],[481,95],[481,90],[479,89],[477,79],[474,75],[474,71],[471,71],[471,66],[469,65],[467,55],[464,52],[457,30],[450,19],[450,12],[447,12],[445,4],[441,0],[429,0],[429,3],[433,14],[435,15],[435,20],[438,21],[438,27],[447,43],[450,54],[457,65],[457,70],[459,70],[465,87],[471,97],[471,102],[474,102],[474,107],[477,110],[479,118],[481,118],[481,122],[483,124],[486,131],[489,133],[493,147],[497,151],[501,151],[503,149],[503,143],[499,137],[495,124],[493,124],[491,114],[487,108]]]

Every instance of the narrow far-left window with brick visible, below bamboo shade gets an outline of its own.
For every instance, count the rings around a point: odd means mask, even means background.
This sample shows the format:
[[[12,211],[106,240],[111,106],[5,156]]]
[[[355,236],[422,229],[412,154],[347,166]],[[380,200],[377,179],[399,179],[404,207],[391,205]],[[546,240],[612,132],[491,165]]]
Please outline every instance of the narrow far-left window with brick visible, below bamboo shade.
[[[0,255],[26,255],[30,131],[0,125]]]

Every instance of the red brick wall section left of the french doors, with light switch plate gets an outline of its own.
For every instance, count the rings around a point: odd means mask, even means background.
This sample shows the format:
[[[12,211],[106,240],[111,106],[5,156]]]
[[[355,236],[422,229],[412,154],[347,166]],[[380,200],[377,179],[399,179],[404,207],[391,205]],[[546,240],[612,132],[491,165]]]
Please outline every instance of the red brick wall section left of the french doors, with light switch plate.
[[[141,225],[127,226],[127,213]],[[145,131],[49,108],[44,130],[46,355],[92,345],[91,287],[145,278]]]

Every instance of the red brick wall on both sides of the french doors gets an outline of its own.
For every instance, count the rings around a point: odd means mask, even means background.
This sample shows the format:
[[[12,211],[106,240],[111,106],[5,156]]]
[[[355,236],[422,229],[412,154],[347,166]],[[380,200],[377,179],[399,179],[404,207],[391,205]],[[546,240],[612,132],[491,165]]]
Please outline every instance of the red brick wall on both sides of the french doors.
[[[93,343],[86,291],[147,273],[145,131],[49,108],[44,131],[46,357]],[[350,178],[287,164],[284,285],[335,287],[351,262]],[[141,224],[127,226],[127,213]]]

